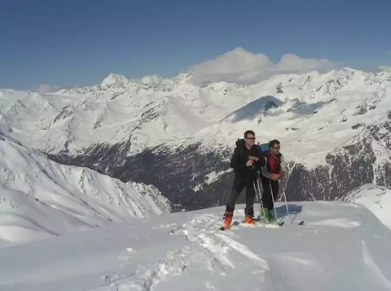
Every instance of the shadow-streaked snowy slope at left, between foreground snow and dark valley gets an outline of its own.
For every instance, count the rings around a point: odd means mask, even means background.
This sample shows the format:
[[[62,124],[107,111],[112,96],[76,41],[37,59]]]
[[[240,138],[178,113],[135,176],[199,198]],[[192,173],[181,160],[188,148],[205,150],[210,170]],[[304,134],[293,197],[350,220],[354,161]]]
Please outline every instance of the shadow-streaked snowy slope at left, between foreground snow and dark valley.
[[[58,164],[0,131],[0,247],[170,211],[153,186]]]

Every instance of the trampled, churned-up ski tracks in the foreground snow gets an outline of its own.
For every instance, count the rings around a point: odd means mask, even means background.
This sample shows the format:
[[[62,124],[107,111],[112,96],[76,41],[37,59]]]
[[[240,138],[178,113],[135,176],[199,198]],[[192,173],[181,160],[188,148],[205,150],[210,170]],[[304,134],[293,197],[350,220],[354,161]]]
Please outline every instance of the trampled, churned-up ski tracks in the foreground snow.
[[[170,251],[163,259],[157,260],[155,264],[142,265],[130,276],[118,273],[112,277],[106,276],[108,285],[94,289],[96,291],[122,291],[122,290],[157,290],[157,284],[168,280],[173,276],[186,272],[192,264],[199,265],[199,268],[208,270],[211,274],[225,276],[224,280],[235,283],[237,277],[229,277],[236,269],[236,262],[231,257],[232,252],[247,258],[247,265],[251,266],[253,274],[261,278],[269,270],[267,262],[252,252],[248,247],[230,237],[229,230],[225,233],[217,230],[221,223],[221,217],[214,214],[197,215],[189,223],[180,227],[172,228],[171,235],[185,235],[187,244],[180,250]],[[160,225],[160,228],[173,227],[175,224]],[[228,233],[228,234],[226,234]],[[120,257],[121,260],[129,260],[128,256]],[[215,276],[215,275],[214,275]],[[201,284],[202,285],[202,284]],[[165,288],[162,288],[162,290]],[[200,290],[215,290],[212,283],[206,282]]]

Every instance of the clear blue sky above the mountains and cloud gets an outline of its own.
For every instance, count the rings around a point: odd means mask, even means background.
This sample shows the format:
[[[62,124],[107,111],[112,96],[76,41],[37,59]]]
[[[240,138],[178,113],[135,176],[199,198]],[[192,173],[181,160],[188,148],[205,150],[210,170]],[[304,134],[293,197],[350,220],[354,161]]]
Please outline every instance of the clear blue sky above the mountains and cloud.
[[[391,1],[0,0],[0,87],[172,77],[240,46],[391,65]]]

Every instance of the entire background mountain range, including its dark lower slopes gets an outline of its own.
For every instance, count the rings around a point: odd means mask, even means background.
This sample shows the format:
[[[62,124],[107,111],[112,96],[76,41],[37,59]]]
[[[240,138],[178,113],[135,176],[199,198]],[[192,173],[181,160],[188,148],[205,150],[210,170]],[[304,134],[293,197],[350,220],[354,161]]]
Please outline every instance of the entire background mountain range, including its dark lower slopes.
[[[196,85],[192,75],[51,93],[2,90],[2,128],[51,159],[155,185],[178,209],[225,203],[237,138],[282,142],[290,200],[334,200],[391,185],[391,68]]]

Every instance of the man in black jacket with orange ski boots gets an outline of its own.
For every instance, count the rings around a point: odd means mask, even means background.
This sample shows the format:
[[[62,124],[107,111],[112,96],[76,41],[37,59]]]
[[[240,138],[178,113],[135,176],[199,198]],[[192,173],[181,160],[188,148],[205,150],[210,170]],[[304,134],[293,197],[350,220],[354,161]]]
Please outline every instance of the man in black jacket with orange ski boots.
[[[224,213],[224,228],[229,228],[235,210],[238,197],[246,187],[245,223],[256,224],[252,220],[254,216],[254,181],[261,171],[264,163],[262,152],[255,144],[255,133],[252,130],[244,132],[244,138],[236,142],[236,148],[231,158],[230,166],[234,169],[234,183],[231,188],[231,195],[228,198]]]

